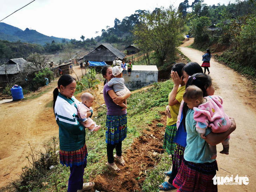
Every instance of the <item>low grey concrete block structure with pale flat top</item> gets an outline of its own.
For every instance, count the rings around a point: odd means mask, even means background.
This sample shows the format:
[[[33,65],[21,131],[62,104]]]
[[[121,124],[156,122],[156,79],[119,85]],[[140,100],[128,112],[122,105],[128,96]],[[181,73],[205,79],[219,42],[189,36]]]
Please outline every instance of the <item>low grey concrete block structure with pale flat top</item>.
[[[126,64],[127,69],[127,64]],[[128,76],[128,71],[126,70],[126,75],[123,75],[124,84],[129,90],[136,90],[145,87],[149,84],[157,82],[158,69],[156,66],[139,66],[133,65],[133,70]]]

